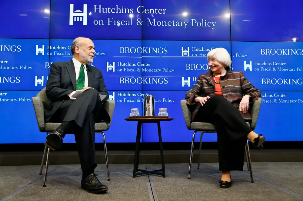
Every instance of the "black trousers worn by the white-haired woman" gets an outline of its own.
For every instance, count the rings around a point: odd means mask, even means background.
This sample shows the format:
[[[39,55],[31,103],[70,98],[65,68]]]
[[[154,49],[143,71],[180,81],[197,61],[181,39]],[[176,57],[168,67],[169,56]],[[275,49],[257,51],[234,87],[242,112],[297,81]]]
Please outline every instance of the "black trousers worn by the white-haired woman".
[[[220,171],[243,171],[245,140],[252,129],[239,110],[223,96],[210,97],[193,120],[215,125],[218,136]]]

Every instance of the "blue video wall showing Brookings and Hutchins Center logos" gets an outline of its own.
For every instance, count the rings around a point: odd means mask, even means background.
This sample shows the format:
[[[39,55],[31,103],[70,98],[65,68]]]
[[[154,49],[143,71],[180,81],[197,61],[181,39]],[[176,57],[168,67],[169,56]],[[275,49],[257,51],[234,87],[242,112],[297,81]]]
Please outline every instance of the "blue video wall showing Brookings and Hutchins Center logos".
[[[218,47],[230,53],[231,70],[262,92],[255,131],[267,141],[303,141],[300,0],[10,0],[0,7],[0,144],[45,142],[31,98],[45,88],[52,62],[72,59],[76,37],[94,42],[90,64],[116,102],[107,142],[135,142],[136,122],[124,119],[131,108],[143,115],[145,94],[155,96],[156,114],[165,107],[175,118],[161,122],[162,141],[191,142],[180,101]],[[142,126],[142,142],[158,142],[156,124]]]

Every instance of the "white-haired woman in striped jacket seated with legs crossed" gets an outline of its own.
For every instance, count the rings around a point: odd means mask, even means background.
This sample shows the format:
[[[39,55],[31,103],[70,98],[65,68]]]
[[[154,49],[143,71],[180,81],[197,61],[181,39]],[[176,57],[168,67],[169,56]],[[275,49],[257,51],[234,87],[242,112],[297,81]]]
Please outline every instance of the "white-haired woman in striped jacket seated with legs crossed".
[[[218,136],[220,187],[231,186],[230,171],[243,171],[245,140],[263,147],[265,137],[256,134],[245,122],[250,118],[249,106],[261,97],[261,91],[244,77],[243,72],[231,71],[231,58],[224,48],[207,54],[210,70],[198,78],[186,92],[187,104],[193,106],[193,122],[215,125]]]

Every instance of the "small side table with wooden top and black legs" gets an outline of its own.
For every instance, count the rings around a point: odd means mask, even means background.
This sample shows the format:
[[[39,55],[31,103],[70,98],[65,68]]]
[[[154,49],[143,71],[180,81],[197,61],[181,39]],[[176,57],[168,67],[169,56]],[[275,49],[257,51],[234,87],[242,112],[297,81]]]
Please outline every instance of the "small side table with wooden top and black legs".
[[[161,117],[161,116],[134,116],[132,118],[126,118],[126,121],[138,121],[138,126],[137,126],[137,137],[136,137],[136,150],[135,150],[135,161],[134,161],[134,172],[133,172],[133,177],[136,177],[138,175],[143,175],[143,174],[158,174],[163,177],[165,177],[165,166],[164,166],[164,155],[163,155],[163,146],[162,146],[162,137],[161,137],[161,128],[160,128],[160,121],[171,121],[174,118],[168,118],[168,117]],[[162,164],[162,169],[160,170],[141,170],[138,169],[139,167],[139,143],[141,140],[141,128],[142,128],[142,123],[157,123],[158,124],[158,135],[159,135],[159,143],[160,143],[160,154],[161,154],[161,164]],[[138,173],[136,173],[138,172]],[[140,173],[139,173],[140,172]],[[162,172],[162,173],[160,173]]]

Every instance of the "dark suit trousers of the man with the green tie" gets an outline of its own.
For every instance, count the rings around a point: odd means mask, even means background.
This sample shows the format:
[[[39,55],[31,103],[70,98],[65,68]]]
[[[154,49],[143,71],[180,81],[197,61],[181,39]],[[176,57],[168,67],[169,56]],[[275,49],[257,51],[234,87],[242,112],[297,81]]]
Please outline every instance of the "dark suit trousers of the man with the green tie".
[[[100,119],[102,102],[98,91],[87,89],[76,100],[66,100],[55,112],[50,122],[69,121],[75,126],[67,133],[74,133],[83,176],[97,167],[95,153],[95,119]]]

